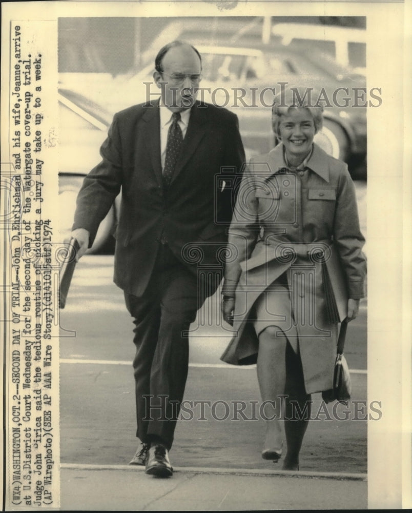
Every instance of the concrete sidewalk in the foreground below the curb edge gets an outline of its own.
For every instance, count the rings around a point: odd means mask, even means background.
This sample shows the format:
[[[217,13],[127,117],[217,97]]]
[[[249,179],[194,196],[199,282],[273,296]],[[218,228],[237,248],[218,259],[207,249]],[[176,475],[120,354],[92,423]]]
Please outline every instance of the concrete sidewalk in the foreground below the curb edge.
[[[364,474],[178,467],[159,479],[143,467],[76,464],[60,472],[69,511],[367,509]]]

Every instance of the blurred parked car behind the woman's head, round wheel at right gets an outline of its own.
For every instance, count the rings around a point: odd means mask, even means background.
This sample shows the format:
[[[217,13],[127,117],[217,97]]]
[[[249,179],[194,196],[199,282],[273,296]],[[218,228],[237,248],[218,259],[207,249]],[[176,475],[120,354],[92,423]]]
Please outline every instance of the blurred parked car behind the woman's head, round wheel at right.
[[[317,136],[317,142],[326,151],[345,161],[349,170],[355,168],[366,156],[366,107],[339,107],[332,101],[338,88],[364,88],[363,75],[351,72],[338,65],[331,57],[319,52],[306,54],[300,47],[272,45],[270,50],[242,47],[197,46],[204,62],[201,87],[221,88],[220,98],[215,102],[224,105],[227,94],[224,89],[234,91],[242,87],[245,107],[239,105],[233,110],[238,114],[240,130],[245,144],[260,152],[269,151],[276,140],[271,130],[271,94],[265,95],[264,105],[250,107],[255,96],[265,88],[280,90],[280,83],[302,85],[314,89],[312,97],[318,98],[323,90],[332,106],[324,108],[324,128]],[[254,88],[258,92],[254,92]],[[350,94],[350,93],[349,93]],[[339,100],[342,104],[340,96]],[[206,98],[207,100],[210,98]],[[259,105],[260,104],[260,105]],[[231,102],[229,105],[233,105]],[[354,176],[356,177],[356,176]]]

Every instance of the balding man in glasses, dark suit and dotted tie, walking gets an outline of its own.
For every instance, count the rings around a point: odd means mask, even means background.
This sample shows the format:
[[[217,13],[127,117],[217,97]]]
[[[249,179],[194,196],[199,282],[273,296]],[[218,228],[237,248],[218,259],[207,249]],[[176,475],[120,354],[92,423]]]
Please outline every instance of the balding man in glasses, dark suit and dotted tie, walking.
[[[153,77],[160,102],[115,114],[102,161],[78,194],[72,232],[80,258],[121,190],[114,282],[134,318],[142,443],[131,463],[161,477],[173,472],[168,450],[188,373],[185,331],[220,282],[233,184],[244,162],[237,117],[196,101],[201,69],[198,51],[186,43],[159,51]]]

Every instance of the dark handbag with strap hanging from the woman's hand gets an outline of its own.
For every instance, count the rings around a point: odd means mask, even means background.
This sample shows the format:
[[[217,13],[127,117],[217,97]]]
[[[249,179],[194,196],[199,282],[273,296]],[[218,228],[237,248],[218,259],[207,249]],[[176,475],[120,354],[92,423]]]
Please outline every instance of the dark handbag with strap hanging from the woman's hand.
[[[349,373],[349,367],[347,366],[346,359],[343,355],[347,323],[348,321],[345,319],[340,325],[333,376],[333,388],[322,392],[322,399],[325,403],[330,403],[332,401],[345,402],[351,399],[351,374]]]

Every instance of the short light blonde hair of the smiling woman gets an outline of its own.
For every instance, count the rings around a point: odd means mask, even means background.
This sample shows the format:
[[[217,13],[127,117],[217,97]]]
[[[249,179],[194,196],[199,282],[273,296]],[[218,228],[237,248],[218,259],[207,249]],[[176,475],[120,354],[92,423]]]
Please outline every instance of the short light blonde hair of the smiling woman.
[[[310,88],[293,87],[283,89],[278,93],[272,105],[272,128],[279,137],[280,117],[289,114],[290,109],[306,109],[310,112],[315,125],[315,133],[318,133],[323,126],[323,106],[311,102]]]

